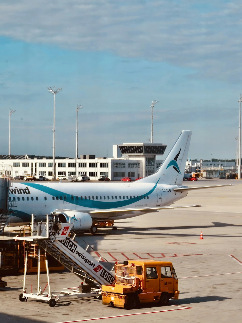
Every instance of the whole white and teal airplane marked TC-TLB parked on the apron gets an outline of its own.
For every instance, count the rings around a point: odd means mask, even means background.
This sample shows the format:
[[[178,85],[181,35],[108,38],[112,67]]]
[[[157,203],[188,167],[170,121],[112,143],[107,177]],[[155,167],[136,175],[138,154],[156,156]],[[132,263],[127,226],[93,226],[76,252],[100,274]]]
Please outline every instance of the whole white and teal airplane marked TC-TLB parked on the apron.
[[[163,209],[187,196],[189,190],[215,186],[182,185],[192,131],[183,130],[156,173],[136,182],[16,183],[9,189],[13,214],[8,225],[40,221],[55,216],[61,223],[73,223],[75,231],[95,233],[98,226]],[[216,185],[227,186],[227,185]],[[11,207],[12,205],[12,207]],[[14,206],[14,207],[13,207]]]

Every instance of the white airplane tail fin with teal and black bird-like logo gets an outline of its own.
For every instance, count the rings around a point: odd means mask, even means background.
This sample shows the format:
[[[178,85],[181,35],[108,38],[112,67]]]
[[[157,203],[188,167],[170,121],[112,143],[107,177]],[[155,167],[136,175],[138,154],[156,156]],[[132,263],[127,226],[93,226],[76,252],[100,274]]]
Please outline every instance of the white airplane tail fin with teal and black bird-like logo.
[[[158,170],[138,182],[182,185],[191,135],[183,130]]]

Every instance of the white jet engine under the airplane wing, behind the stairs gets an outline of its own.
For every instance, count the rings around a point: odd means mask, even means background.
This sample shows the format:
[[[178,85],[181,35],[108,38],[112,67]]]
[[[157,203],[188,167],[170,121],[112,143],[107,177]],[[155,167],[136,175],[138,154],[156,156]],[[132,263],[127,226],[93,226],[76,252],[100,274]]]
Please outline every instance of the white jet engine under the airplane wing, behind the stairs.
[[[89,230],[93,226],[92,217],[88,213],[66,211],[61,212],[55,218],[61,223],[73,223],[74,231]]]

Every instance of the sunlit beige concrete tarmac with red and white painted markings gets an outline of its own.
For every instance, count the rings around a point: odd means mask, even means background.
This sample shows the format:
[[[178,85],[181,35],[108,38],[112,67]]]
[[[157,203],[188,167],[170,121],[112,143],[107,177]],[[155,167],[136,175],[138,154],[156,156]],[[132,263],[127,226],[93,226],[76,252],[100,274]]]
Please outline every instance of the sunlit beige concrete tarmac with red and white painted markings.
[[[145,214],[116,221],[116,231],[109,228],[79,234],[112,262],[137,258],[172,261],[179,279],[179,300],[170,300],[166,307],[148,304],[124,310],[94,298],[72,297],[49,307],[47,302],[30,298],[19,301],[23,276],[2,277],[7,287],[0,289],[1,322],[242,322],[242,181],[202,179],[183,184],[236,185],[194,190],[174,204],[204,207]],[[41,274],[42,290],[46,282],[46,275]],[[34,290],[36,275],[27,276],[28,292],[31,284]],[[50,273],[50,285],[51,291],[57,291],[77,287],[80,280],[70,272]]]

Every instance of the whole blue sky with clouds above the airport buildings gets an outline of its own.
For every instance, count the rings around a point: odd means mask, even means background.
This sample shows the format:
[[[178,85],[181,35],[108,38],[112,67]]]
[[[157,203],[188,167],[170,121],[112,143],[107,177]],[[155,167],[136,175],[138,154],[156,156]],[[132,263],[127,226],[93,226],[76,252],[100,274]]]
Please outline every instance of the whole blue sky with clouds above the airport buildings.
[[[1,2],[1,150],[112,157],[113,145],[167,151],[193,130],[189,157],[236,158],[241,78],[240,1]]]

